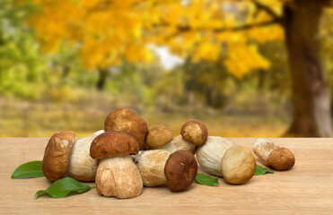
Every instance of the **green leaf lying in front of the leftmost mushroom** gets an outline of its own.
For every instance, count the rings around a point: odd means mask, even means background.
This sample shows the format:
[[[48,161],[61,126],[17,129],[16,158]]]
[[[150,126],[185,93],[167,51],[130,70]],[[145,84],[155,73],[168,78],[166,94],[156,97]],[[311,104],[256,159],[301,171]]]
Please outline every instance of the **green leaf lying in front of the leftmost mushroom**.
[[[52,185],[48,186],[48,189],[39,190],[37,193],[35,193],[35,198],[37,199],[40,195],[44,194],[48,194],[53,198],[64,198],[71,192],[83,193],[90,189],[92,189],[91,186],[76,181],[72,177],[63,177]]]

